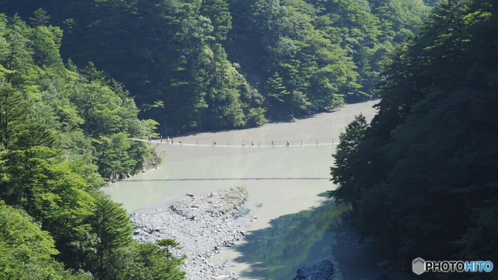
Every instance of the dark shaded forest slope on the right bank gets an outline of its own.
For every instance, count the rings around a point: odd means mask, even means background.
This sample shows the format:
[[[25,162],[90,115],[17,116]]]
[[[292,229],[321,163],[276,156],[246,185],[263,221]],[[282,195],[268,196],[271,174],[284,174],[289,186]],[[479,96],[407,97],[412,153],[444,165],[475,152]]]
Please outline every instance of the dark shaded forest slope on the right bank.
[[[387,258],[498,260],[498,3],[441,0],[335,152],[338,203]],[[497,279],[497,274],[425,274]]]

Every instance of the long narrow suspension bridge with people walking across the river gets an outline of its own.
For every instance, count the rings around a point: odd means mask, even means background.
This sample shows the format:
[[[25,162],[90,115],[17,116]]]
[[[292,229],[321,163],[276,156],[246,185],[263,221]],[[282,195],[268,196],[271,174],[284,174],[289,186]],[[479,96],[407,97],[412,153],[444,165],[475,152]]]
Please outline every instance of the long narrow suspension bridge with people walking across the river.
[[[254,145],[249,143],[244,143],[242,144],[242,141],[230,141],[230,140],[211,140],[211,144],[206,144],[206,143],[199,143],[199,140],[194,139],[194,142],[192,142],[192,139],[188,139],[187,142],[185,140],[180,143],[178,140],[174,143],[171,143],[165,139],[162,141],[160,139],[153,139],[153,140],[145,140],[145,139],[138,139],[138,138],[128,138],[128,140],[132,141],[140,141],[140,142],[149,142],[149,143],[158,143],[158,144],[166,144],[166,145],[181,145],[181,146],[193,146],[193,147],[226,147],[226,148],[251,148],[251,147],[257,147],[257,148],[284,148],[284,147],[310,147],[310,146],[327,146],[327,145],[337,145],[338,142],[335,142],[333,138],[327,138],[327,139],[316,139],[316,140],[298,140],[298,141],[289,141],[289,144],[287,145],[287,141],[283,141],[284,144],[271,144],[271,141],[265,141],[270,144],[263,144],[261,145],[261,141],[254,141]],[[204,140],[205,142],[206,140]],[[208,140],[209,141],[209,140]],[[216,141],[216,144],[215,144]]]

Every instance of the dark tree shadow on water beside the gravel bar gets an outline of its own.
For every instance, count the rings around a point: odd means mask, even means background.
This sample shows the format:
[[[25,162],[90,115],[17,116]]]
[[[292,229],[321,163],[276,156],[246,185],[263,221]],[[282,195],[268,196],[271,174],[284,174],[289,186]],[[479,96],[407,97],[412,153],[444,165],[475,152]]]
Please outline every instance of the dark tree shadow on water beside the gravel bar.
[[[249,268],[244,279],[289,280],[296,271],[330,260],[335,280],[360,280],[386,274],[389,280],[412,280],[413,275],[379,269],[380,258],[359,243],[357,235],[341,221],[347,209],[326,200],[320,206],[280,216],[270,226],[249,232],[245,243],[234,249],[234,261]]]

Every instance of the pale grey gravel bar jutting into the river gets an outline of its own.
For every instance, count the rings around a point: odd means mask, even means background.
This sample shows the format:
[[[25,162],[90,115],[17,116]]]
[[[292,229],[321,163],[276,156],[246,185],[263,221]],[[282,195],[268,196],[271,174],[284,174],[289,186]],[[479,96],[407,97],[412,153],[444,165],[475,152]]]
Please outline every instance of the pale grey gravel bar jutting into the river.
[[[144,242],[166,238],[180,242],[183,248],[173,249],[173,254],[187,255],[183,267],[189,280],[236,280],[234,272],[219,272],[230,264],[215,267],[209,259],[246,235],[255,219],[252,211],[239,215],[247,195],[246,186],[240,186],[165,198],[130,215],[134,237]]]

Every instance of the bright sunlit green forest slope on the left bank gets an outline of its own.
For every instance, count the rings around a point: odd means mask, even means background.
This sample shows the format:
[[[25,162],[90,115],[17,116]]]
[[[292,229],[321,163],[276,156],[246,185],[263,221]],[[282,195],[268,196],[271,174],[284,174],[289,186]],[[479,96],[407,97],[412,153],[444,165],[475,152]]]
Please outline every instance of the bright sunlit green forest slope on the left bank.
[[[92,63],[64,65],[62,33],[0,14],[0,279],[184,279],[177,244],[134,241],[99,191],[142,169],[152,148],[126,137],[157,123]]]

